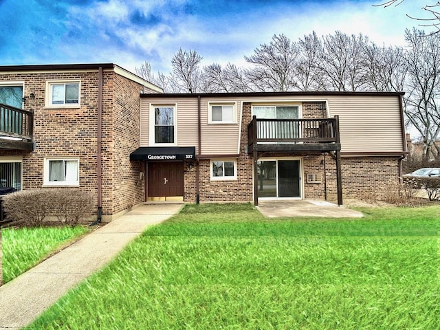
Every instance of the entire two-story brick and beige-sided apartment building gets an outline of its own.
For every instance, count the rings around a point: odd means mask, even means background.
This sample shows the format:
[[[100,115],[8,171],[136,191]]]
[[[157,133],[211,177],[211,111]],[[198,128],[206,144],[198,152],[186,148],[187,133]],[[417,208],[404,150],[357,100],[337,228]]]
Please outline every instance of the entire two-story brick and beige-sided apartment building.
[[[90,192],[104,221],[144,201],[342,204],[401,175],[401,96],[163,94],[113,64],[3,66],[0,179]]]

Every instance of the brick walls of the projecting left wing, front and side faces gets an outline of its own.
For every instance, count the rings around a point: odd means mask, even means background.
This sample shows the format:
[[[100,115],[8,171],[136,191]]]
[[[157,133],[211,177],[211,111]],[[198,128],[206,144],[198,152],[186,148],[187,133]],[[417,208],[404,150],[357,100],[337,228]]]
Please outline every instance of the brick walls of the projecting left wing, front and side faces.
[[[46,81],[78,79],[80,108],[44,109]],[[0,74],[0,81],[24,81],[25,110],[34,111],[36,148],[0,151],[23,155],[23,189],[43,186],[45,157],[78,157],[80,190],[97,199],[98,71]],[[129,155],[139,146],[140,90],[142,86],[113,72],[103,72],[102,89],[102,214],[115,214],[142,201],[140,162]]]

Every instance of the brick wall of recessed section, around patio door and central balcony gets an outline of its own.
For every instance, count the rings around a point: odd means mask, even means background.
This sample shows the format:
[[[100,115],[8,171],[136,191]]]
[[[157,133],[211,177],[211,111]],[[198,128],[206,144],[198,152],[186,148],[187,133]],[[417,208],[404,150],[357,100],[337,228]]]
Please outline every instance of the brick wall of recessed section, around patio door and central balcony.
[[[324,102],[304,102],[303,118],[325,118]],[[245,153],[248,145],[247,124],[251,120],[251,104],[243,104],[240,156],[237,159],[236,181],[210,181],[210,159],[201,159],[200,201],[253,200],[252,157]],[[336,162],[326,153],[265,153],[263,157],[298,157],[303,164],[305,199],[337,201]],[[325,164],[324,164],[325,160]],[[389,179],[398,179],[398,157],[342,157],[342,194],[344,198],[364,198]],[[185,175],[185,200],[195,201],[195,168]],[[321,176],[320,183],[308,183],[307,174]]]

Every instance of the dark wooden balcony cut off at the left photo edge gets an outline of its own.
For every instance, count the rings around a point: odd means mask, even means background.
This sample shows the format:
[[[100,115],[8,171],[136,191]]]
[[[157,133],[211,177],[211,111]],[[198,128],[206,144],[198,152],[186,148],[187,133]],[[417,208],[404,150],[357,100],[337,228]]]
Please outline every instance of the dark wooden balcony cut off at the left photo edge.
[[[32,151],[34,113],[0,103],[0,149]]]

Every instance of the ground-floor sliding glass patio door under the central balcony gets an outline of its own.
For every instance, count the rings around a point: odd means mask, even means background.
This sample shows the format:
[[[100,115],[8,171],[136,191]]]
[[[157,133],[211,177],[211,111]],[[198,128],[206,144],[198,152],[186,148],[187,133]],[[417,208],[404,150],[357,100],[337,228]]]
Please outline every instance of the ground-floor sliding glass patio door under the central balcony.
[[[301,197],[298,159],[261,160],[258,175],[259,197]]]

